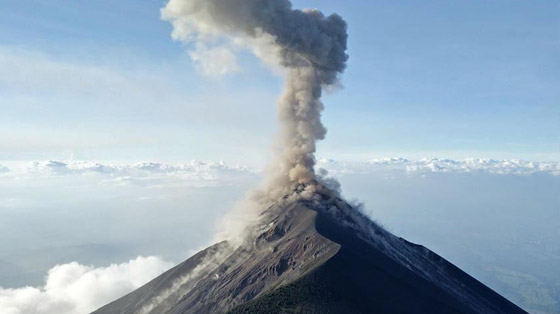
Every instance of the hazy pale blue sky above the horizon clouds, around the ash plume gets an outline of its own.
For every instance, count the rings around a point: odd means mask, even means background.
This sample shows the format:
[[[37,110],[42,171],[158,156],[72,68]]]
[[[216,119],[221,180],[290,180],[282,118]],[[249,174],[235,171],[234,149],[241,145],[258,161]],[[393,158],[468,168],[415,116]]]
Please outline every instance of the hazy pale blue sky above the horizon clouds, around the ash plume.
[[[261,164],[282,79],[196,73],[164,1],[0,4],[0,159]],[[560,160],[560,3],[294,1],[349,24],[319,156]]]

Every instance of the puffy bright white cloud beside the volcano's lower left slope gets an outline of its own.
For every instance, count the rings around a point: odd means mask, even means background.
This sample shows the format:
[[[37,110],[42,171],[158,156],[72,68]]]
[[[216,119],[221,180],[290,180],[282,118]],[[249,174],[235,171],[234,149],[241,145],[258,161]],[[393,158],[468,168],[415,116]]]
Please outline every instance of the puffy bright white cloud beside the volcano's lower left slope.
[[[49,270],[40,288],[0,288],[2,314],[84,314],[142,286],[172,265],[158,257],[94,268],[76,262]]]

